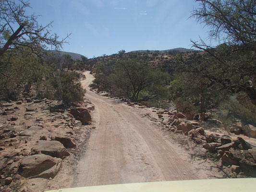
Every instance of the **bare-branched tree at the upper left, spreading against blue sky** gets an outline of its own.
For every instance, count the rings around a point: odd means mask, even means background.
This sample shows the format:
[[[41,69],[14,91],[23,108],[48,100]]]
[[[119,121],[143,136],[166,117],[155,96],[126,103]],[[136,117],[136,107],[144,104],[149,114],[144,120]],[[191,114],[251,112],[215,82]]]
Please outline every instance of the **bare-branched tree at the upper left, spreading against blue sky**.
[[[0,58],[15,48],[41,56],[48,48],[59,50],[65,38],[59,40],[57,34],[50,34],[49,27],[38,24],[38,15],[28,15],[25,9],[30,8],[28,0],[0,0]],[[2,62],[0,64],[3,64]]]

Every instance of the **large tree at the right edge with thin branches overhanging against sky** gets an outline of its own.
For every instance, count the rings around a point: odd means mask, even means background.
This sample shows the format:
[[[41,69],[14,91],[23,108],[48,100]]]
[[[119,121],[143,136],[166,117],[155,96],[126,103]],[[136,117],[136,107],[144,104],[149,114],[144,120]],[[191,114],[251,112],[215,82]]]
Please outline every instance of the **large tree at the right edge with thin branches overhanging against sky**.
[[[182,61],[183,71],[208,79],[208,86],[231,93],[243,91],[256,105],[256,1],[195,0],[192,12],[197,22],[210,27],[209,37],[222,42],[217,48],[191,41],[194,48],[207,52],[196,62]]]

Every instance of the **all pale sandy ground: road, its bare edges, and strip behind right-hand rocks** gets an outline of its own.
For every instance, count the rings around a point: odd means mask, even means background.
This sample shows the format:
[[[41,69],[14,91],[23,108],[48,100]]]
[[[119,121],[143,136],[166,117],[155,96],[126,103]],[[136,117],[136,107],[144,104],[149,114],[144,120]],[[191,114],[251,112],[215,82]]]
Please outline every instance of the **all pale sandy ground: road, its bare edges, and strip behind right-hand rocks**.
[[[152,108],[133,108],[118,99],[96,94],[88,87],[93,75],[84,74],[86,79],[81,84],[86,88],[85,97],[95,105],[90,127],[96,129],[91,131],[88,141],[79,145],[79,156],[73,162],[70,159],[48,182],[48,190],[227,177],[219,160],[205,158],[206,150],[202,146],[194,148],[188,145],[191,141],[187,136],[166,131],[159,122],[150,121],[146,113],[158,119]],[[219,129],[208,129],[207,133],[211,132],[237,137]],[[242,137],[255,146],[256,139]]]

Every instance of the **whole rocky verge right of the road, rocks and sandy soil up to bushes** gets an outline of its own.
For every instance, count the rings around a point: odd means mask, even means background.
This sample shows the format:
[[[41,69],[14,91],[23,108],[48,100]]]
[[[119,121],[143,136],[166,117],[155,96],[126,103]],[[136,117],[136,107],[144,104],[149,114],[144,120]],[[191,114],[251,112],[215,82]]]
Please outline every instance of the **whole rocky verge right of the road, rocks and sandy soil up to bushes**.
[[[109,96],[108,93],[98,94]],[[184,115],[177,113],[176,110],[147,108],[124,97],[114,99],[132,108],[138,108],[138,111],[142,112],[142,117],[158,124],[165,134],[181,144],[191,159],[207,161],[208,169],[213,172],[209,178],[256,177],[256,128],[252,125],[234,125],[227,128],[215,119],[203,121],[199,115]],[[234,129],[239,129],[239,132],[235,132]],[[214,176],[214,171],[218,172],[218,176]],[[221,177],[219,172],[222,173]]]

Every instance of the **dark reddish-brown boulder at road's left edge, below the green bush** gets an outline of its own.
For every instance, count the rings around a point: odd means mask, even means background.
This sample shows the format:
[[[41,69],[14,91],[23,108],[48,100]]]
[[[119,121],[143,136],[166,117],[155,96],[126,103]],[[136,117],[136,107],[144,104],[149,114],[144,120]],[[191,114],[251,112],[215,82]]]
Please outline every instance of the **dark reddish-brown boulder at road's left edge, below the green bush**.
[[[91,115],[87,108],[71,108],[69,113],[72,114],[76,120],[80,120],[83,125],[91,123]]]

